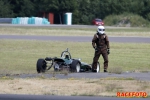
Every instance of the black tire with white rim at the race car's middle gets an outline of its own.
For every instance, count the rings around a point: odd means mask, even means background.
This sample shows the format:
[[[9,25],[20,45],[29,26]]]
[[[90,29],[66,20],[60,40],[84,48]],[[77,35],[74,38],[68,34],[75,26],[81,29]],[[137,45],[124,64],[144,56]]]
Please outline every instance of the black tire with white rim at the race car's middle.
[[[81,69],[81,63],[78,60],[73,60],[72,64],[71,64],[71,72],[80,72]]]

